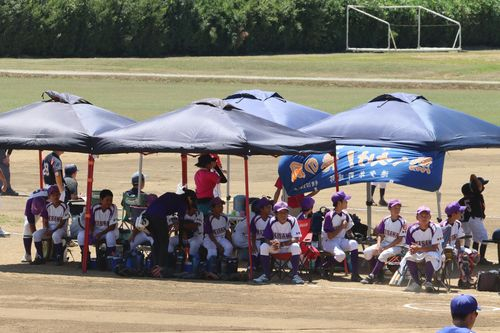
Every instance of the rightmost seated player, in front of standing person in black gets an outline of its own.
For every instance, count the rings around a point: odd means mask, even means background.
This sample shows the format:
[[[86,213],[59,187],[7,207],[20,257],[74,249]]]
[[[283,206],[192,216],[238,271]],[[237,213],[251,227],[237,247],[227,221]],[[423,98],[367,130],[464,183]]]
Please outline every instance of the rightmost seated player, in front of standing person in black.
[[[448,218],[440,223],[443,234],[445,234],[446,228],[450,229],[447,233],[449,237],[445,239],[443,248],[452,250],[453,255],[458,258],[458,267],[460,269],[459,288],[470,288],[474,283],[472,272],[478,260],[477,251],[463,247],[460,239],[465,236],[465,233],[462,229],[462,223],[459,220],[466,208],[465,206],[460,206],[456,201],[450,203],[444,210]]]

